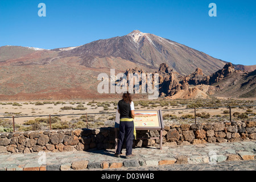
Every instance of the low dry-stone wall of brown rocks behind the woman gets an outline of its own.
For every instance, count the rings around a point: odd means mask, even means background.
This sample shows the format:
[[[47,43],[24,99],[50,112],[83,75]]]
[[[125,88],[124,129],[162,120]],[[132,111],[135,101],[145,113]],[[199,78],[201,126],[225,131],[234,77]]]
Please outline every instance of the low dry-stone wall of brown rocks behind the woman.
[[[138,138],[159,137],[160,131],[137,131]],[[163,146],[256,139],[256,122],[216,122],[165,126]],[[134,140],[134,146],[155,146],[159,139]],[[27,131],[0,134],[0,154],[39,151],[81,151],[114,148],[114,128]]]

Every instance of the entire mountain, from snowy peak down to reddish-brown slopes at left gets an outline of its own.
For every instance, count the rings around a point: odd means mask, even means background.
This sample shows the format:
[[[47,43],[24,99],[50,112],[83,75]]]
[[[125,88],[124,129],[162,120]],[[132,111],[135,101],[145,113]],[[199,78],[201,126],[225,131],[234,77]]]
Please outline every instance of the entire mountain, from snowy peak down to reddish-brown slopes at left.
[[[3,46],[0,47],[0,99],[116,97],[113,94],[98,94],[98,74],[110,75],[110,68],[115,68],[117,75],[135,67],[144,72],[159,70],[162,75],[166,74],[167,77],[162,79],[167,80],[164,84],[168,88],[163,86],[163,93],[168,95],[199,82],[210,84],[213,77],[207,76],[222,69],[225,64],[225,61],[183,44],[138,30],[82,46],[51,50]],[[254,67],[239,65],[238,69]],[[234,68],[237,69],[236,65]],[[188,81],[182,80],[185,77]]]

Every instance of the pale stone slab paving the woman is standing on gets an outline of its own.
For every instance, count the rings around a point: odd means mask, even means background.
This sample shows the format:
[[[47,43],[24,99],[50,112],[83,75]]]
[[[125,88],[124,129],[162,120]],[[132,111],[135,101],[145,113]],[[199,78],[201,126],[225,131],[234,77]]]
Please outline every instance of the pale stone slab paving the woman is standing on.
[[[125,154],[125,150],[123,150]],[[255,170],[256,141],[133,148],[135,157],[114,150],[0,155],[2,171],[67,170]]]

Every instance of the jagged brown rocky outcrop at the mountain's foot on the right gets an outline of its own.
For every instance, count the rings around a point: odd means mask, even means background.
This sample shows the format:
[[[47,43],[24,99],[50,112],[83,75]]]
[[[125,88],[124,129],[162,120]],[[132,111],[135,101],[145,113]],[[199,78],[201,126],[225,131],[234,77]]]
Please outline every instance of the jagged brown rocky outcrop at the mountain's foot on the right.
[[[142,69],[133,68],[127,69],[125,75],[137,73],[138,75],[144,72]],[[170,69],[166,63],[160,64],[158,69],[159,75],[159,96],[170,99],[194,99],[194,98],[209,98],[209,95],[217,94],[221,90],[229,88],[230,85],[226,83],[232,81],[232,85],[238,85],[239,80],[243,80],[241,89],[246,93],[246,96],[255,96],[255,71],[254,72],[242,72],[234,69],[231,63],[227,63],[224,68],[213,73],[210,76],[205,76],[201,68],[196,68],[196,71],[190,75],[184,76]],[[154,75],[155,73],[152,73]],[[237,77],[235,74],[243,74],[243,77]],[[231,78],[231,79],[230,79]],[[225,79],[229,79],[225,81]],[[153,78],[154,80],[154,78]],[[221,81],[224,80],[224,84]],[[247,80],[247,82],[245,81]],[[147,79],[139,80],[140,85],[142,82],[146,82]],[[128,83],[128,82],[127,82]],[[220,83],[216,85],[216,83]],[[249,87],[247,85],[250,85]],[[246,89],[248,87],[248,89]],[[245,88],[245,89],[244,89]],[[246,92],[249,90],[249,93]],[[141,88],[140,91],[141,92]],[[234,94],[235,96],[236,94]]]

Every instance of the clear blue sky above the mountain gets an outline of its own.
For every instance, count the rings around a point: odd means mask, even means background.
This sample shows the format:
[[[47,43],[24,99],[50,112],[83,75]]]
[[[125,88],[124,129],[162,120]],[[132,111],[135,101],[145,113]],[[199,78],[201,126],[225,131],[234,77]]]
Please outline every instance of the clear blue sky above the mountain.
[[[46,17],[38,16],[41,2]],[[208,15],[212,2],[217,17]],[[1,0],[0,24],[0,46],[80,46],[140,30],[233,64],[256,64],[252,0]]]

